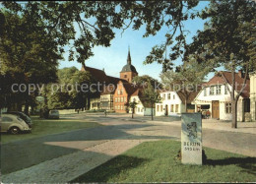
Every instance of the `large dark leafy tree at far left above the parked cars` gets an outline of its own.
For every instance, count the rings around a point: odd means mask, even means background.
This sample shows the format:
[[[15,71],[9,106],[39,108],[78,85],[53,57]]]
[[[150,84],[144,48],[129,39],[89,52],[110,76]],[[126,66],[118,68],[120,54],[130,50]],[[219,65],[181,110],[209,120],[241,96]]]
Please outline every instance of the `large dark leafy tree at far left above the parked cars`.
[[[26,17],[6,9],[0,12],[0,17],[0,75],[5,89],[1,98],[8,107],[25,103],[25,112],[29,114],[29,105],[34,102],[30,84],[56,81],[57,60],[61,55],[56,52],[55,41],[43,30],[32,30]],[[13,92],[14,84],[24,84],[23,92]]]

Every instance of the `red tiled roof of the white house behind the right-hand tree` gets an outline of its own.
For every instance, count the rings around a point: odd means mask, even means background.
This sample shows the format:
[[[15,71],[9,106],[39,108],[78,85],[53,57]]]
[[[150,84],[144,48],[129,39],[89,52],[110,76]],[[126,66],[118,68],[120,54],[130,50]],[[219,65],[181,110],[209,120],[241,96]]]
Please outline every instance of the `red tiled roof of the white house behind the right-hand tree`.
[[[224,78],[222,77],[222,74],[224,75]],[[231,86],[232,85],[232,73],[221,71],[217,73],[207,84],[206,86],[213,86],[213,85],[224,85],[226,82]],[[240,92],[242,89],[244,77],[242,77],[239,73],[235,73],[235,91]],[[241,93],[241,96],[244,98],[247,98],[250,96],[250,79],[247,76],[246,86],[243,92]]]

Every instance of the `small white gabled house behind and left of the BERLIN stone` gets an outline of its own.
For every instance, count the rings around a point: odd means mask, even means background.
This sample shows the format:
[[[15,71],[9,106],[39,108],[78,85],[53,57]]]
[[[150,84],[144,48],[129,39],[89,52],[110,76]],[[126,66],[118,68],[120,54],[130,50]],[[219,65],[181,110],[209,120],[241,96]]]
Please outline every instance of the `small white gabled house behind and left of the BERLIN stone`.
[[[194,105],[191,101],[197,92],[191,92],[187,100],[187,112],[194,112]],[[160,92],[161,102],[156,103],[156,116],[180,116],[185,112],[184,97],[181,92]]]

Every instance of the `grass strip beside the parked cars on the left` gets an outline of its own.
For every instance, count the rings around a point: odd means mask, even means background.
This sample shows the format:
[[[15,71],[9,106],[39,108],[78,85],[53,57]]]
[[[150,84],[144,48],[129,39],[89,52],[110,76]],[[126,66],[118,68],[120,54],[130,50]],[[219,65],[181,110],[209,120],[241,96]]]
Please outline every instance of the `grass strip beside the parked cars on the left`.
[[[11,135],[7,133],[1,133],[1,143],[9,143],[19,140],[32,139],[35,137],[41,137],[49,134],[56,134],[62,132],[68,132],[72,130],[93,128],[100,126],[95,122],[87,122],[80,119],[39,119],[38,117],[32,117],[32,133],[24,133],[19,135]]]

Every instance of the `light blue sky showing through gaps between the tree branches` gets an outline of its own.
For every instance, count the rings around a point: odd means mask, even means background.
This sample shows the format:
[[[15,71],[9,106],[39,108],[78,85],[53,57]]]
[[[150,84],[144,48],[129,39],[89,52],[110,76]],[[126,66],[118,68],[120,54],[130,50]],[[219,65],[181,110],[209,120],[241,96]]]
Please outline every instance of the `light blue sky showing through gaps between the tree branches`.
[[[209,4],[207,1],[200,1],[196,7],[197,10],[201,10]],[[192,36],[196,34],[196,31],[203,30],[204,21],[201,19],[189,20],[184,23],[185,30],[190,31],[187,36],[187,41],[191,41]],[[78,27],[77,31],[79,32]],[[132,65],[135,66],[139,76],[149,75],[160,81],[160,72],[162,66],[158,63],[144,65],[146,57],[150,54],[152,47],[161,44],[165,40],[166,27],[162,27],[161,30],[155,36],[143,37],[145,33],[145,27],[142,27],[139,31],[133,31],[130,27],[122,34],[122,31],[115,31],[115,38],[111,40],[109,47],[96,46],[94,56],[86,61],[88,67],[96,69],[104,69],[104,72],[108,76],[119,77],[119,73],[122,67],[126,64],[128,55],[128,46],[130,46],[130,53],[132,59]],[[63,55],[64,59],[59,62],[59,68],[75,66],[79,70],[81,64],[76,61],[68,61],[68,52]],[[180,59],[174,61],[175,65],[181,64]],[[207,76],[207,79],[211,79],[214,74]]]

